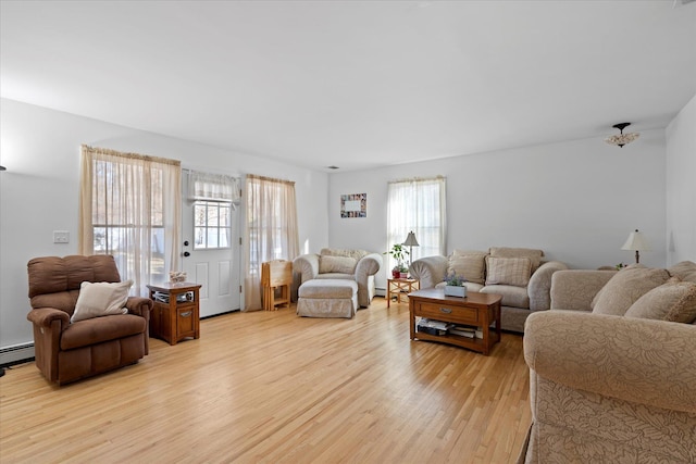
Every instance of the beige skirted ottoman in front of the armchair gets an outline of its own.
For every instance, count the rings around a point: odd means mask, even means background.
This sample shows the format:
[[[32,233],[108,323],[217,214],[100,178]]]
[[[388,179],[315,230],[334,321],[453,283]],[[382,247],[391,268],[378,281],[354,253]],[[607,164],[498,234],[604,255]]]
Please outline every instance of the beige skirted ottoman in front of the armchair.
[[[300,316],[351,318],[358,310],[358,283],[355,280],[308,280],[300,286],[297,296]]]

